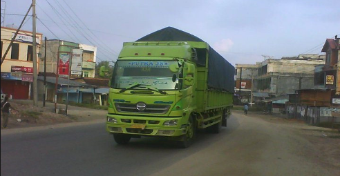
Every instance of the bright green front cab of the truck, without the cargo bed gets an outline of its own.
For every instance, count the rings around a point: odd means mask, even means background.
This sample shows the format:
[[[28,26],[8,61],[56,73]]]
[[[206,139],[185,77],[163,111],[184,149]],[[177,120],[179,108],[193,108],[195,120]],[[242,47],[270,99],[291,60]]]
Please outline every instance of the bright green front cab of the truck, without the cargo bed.
[[[124,43],[113,70],[106,122],[118,144],[136,135],[191,142],[197,108],[194,51],[187,42]]]

